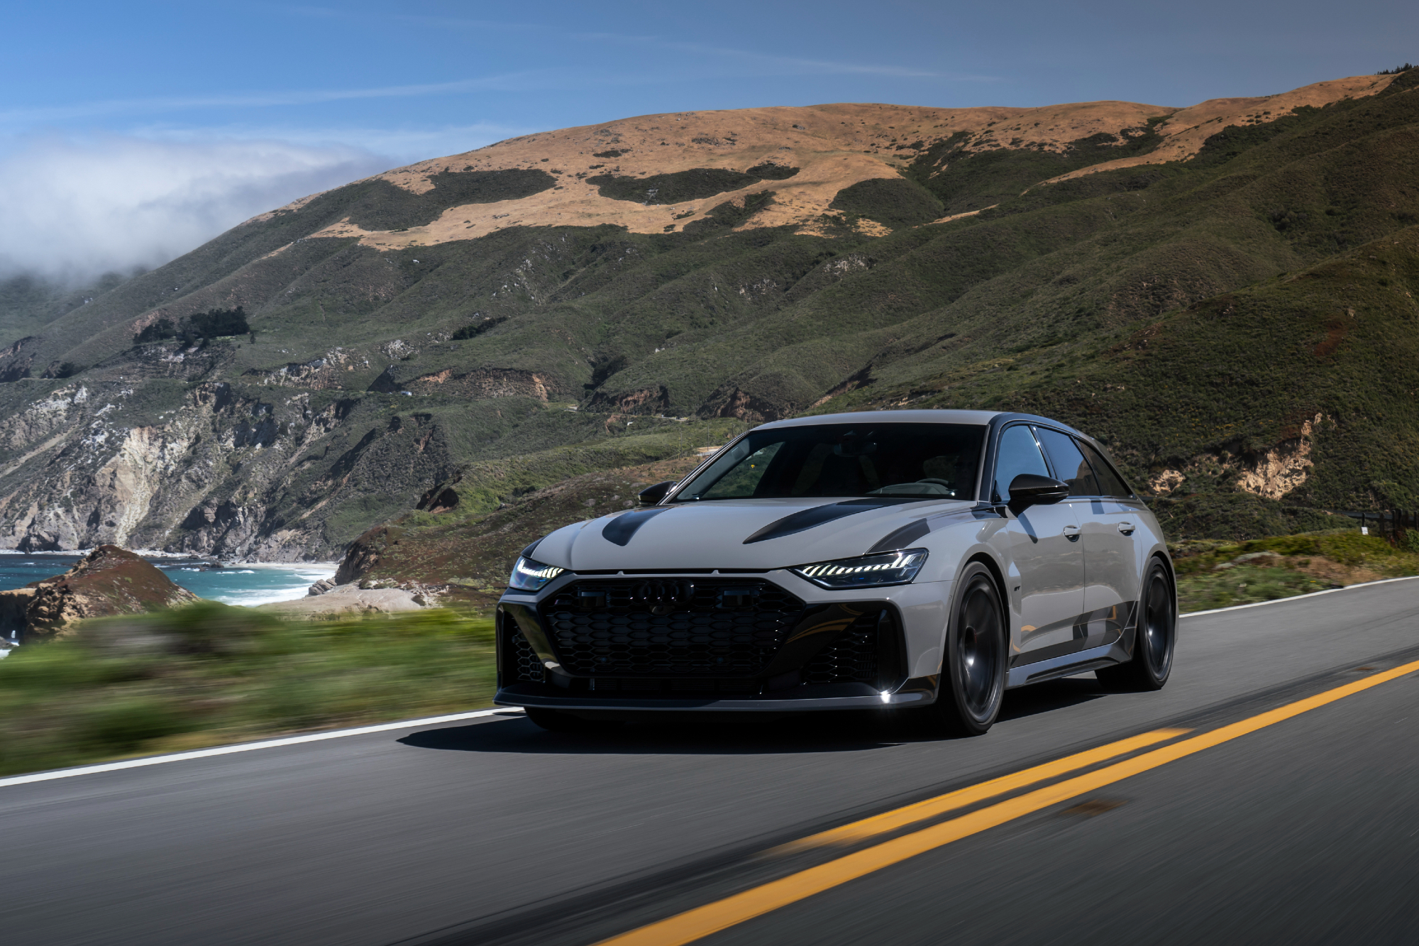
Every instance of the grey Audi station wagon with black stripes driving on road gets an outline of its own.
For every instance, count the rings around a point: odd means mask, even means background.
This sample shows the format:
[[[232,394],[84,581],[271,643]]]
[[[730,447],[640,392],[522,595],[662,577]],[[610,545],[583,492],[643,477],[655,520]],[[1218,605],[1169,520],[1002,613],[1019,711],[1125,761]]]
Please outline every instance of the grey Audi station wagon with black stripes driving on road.
[[[640,506],[528,545],[498,695],[546,729],[647,710],[921,707],[1093,670],[1151,690],[1178,605],[1162,530],[1056,420],[884,411],[766,423]]]

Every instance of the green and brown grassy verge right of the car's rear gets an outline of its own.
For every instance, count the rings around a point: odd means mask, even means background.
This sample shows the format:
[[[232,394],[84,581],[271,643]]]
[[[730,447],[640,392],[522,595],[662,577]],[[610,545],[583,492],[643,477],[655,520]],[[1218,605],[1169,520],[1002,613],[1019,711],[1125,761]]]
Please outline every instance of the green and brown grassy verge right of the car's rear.
[[[1169,550],[1183,614],[1419,575],[1419,533],[1396,544],[1354,528],[1244,543],[1192,540]]]

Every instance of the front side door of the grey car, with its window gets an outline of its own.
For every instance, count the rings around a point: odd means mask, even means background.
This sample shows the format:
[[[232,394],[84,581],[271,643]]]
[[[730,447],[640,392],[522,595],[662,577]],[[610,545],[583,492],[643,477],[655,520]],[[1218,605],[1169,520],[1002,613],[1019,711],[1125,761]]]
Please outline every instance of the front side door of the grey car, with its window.
[[[1023,423],[1000,432],[995,493],[1009,501],[1010,482],[1020,473],[1049,476],[1049,466]],[[1007,510],[1006,526],[1015,571],[1010,604],[1019,615],[1020,653],[1013,663],[1044,660],[1076,649],[1076,621],[1084,609],[1084,553],[1080,524],[1069,503]]]

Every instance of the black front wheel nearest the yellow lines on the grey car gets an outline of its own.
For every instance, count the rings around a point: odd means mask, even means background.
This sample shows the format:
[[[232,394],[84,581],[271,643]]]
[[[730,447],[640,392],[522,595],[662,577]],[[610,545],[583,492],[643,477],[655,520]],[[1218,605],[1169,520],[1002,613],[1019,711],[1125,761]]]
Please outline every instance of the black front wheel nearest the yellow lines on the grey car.
[[[972,562],[946,628],[941,689],[931,705],[937,727],[956,736],[982,736],[1000,714],[1009,655],[1005,608],[989,570]]]

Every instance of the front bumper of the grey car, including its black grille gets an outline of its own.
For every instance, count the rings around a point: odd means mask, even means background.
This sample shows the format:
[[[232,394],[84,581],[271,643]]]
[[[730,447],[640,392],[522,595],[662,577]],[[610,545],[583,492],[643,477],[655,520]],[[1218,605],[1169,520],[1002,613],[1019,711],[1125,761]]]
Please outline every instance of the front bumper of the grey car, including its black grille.
[[[695,602],[651,612],[631,597],[620,607],[614,592],[604,597],[607,587],[647,580],[694,582]],[[749,615],[711,604],[717,585],[735,582],[756,582],[778,604]],[[566,574],[536,595],[504,594],[494,702],[617,713],[924,706],[935,699],[948,591],[948,582],[925,582],[834,592],[782,571],[752,578]],[[775,626],[771,648],[765,621]],[[753,656],[746,658],[751,638]]]

